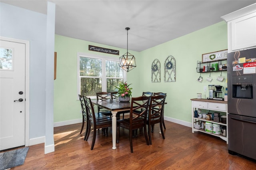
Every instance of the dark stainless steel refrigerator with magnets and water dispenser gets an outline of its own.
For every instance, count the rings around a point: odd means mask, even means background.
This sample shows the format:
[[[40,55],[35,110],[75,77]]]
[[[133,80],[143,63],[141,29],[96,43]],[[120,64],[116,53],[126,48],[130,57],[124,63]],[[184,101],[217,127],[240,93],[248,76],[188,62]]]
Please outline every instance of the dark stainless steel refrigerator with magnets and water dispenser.
[[[256,48],[228,53],[228,152],[256,160]]]

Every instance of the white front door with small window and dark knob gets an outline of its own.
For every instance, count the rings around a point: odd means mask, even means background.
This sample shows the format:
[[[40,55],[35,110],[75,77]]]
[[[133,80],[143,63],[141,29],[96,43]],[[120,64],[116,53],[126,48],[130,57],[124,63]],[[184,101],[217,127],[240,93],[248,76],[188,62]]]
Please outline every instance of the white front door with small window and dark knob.
[[[0,150],[25,145],[25,51],[0,40]]]

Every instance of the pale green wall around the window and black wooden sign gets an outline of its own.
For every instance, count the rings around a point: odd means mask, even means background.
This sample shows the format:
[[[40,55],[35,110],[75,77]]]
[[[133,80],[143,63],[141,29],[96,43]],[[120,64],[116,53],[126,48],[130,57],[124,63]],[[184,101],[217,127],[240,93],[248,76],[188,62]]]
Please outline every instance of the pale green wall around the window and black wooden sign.
[[[127,51],[127,49],[55,35],[57,70],[54,80],[54,123],[82,119],[81,105],[77,95],[77,53],[120,57],[89,51],[88,45],[116,49],[119,50],[120,55]],[[138,55],[136,51],[129,50],[129,52],[135,56]]]

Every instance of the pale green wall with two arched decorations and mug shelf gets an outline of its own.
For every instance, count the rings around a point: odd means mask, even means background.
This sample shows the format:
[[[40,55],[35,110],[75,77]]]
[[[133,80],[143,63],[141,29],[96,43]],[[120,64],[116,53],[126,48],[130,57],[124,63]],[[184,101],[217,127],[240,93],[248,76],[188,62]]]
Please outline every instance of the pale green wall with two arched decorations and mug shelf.
[[[204,86],[207,86],[206,97],[208,97],[209,84],[227,87],[226,81],[221,83],[216,80],[220,72],[211,73],[213,78],[211,83],[206,81],[209,73],[201,74],[202,83],[196,81],[200,76],[200,73],[196,72],[197,61],[202,61],[204,53],[227,49],[227,37],[227,24],[223,21],[140,52],[140,57],[136,59],[141,65],[136,69],[137,73],[134,71],[134,74],[144,73],[140,77],[141,91],[145,89],[167,93],[166,102],[168,104],[164,107],[164,115],[191,123],[190,99],[196,98],[196,93],[202,93],[202,98],[204,98]],[[176,60],[176,82],[164,82],[164,61],[168,55],[172,55]],[[154,59],[158,59],[161,63],[160,83],[151,83],[151,65]],[[226,78],[226,71],[223,71],[222,75]],[[137,86],[135,87],[137,88]]]

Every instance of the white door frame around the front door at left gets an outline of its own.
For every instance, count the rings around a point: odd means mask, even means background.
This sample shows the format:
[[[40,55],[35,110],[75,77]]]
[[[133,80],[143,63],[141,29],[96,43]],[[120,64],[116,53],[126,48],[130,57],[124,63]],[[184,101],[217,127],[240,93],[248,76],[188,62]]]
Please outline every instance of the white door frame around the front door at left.
[[[25,146],[29,146],[29,59],[30,44],[29,41],[13,38],[0,37],[0,40],[25,44]]]

